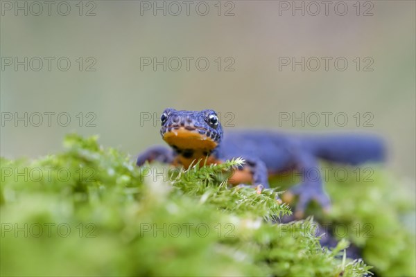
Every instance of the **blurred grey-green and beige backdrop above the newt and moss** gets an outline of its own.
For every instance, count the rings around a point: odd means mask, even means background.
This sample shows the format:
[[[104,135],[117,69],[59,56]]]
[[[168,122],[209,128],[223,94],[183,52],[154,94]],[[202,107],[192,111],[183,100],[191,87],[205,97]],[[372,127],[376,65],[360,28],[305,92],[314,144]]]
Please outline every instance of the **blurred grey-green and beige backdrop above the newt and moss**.
[[[415,26],[415,1],[1,1],[1,156],[78,132],[134,157],[166,107],[209,108],[380,134],[415,190]]]

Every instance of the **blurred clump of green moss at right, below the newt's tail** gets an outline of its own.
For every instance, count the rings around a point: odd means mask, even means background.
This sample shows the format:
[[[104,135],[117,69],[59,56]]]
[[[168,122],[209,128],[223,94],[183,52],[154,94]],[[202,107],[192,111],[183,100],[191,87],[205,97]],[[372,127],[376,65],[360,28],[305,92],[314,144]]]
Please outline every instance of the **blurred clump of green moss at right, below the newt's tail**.
[[[397,180],[374,168],[367,180],[329,182],[334,205],[328,220],[352,230],[347,238],[363,248],[363,258],[379,275],[416,276],[415,230],[403,222],[404,215],[414,215],[414,195]]]

